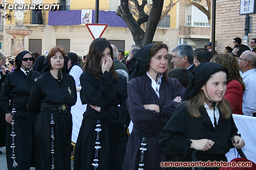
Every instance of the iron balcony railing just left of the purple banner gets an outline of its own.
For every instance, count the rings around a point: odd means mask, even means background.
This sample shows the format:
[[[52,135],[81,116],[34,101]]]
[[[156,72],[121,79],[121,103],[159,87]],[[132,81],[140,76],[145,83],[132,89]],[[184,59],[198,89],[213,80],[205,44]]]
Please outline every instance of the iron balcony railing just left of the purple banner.
[[[45,12],[36,13],[35,10],[24,12],[24,24],[44,24]]]

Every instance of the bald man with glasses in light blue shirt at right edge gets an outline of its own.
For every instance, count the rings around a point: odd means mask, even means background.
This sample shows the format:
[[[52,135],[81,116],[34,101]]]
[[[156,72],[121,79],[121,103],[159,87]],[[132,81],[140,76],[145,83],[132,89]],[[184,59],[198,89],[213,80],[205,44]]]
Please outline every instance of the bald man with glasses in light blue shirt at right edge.
[[[238,58],[246,90],[244,91],[242,110],[244,115],[256,116],[256,53],[247,50]]]

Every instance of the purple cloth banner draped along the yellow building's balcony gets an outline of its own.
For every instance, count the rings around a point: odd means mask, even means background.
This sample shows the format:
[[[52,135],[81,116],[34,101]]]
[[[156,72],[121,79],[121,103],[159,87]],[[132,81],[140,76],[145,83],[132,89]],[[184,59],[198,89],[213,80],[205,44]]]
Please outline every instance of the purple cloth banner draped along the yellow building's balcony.
[[[80,25],[82,10],[49,11],[48,25]],[[92,23],[95,23],[95,10],[92,10]],[[112,27],[127,27],[124,20],[114,11],[99,11],[99,23]]]

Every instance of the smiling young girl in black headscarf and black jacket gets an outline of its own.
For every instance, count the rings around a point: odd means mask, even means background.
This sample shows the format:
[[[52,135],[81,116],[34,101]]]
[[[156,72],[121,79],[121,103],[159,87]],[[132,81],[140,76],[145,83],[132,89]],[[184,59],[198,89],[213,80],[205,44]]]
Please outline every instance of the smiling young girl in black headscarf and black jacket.
[[[223,99],[227,76],[228,70],[217,63],[202,63],[193,70],[183,94],[185,102],[176,108],[159,135],[160,148],[174,156],[174,162],[192,162],[194,149],[200,150],[198,160],[227,162],[225,154],[232,145],[244,147],[231,107]]]

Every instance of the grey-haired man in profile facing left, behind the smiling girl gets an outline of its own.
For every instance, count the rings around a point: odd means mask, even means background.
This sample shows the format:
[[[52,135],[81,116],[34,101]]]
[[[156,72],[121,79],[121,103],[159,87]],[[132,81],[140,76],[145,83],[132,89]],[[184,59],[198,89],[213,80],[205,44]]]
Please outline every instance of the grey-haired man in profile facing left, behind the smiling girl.
[[[180,44],[177,45],[173,51],[172,63],[174,68],[183,67],[188,69],[190,78],[192,77],[192,71],[196,66],[193,64],[194,61],[194,50],[191,45]]]

